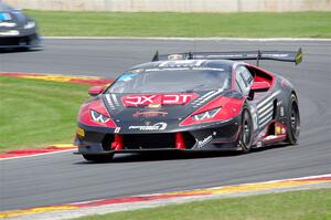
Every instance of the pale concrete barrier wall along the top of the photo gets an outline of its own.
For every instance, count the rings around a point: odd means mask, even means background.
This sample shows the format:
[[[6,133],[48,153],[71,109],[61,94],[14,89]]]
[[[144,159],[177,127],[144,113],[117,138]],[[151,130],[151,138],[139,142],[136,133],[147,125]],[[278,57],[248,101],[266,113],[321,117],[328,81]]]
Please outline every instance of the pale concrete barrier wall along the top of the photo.
[[[1,0],[0,0],[1,1]],[[17,8],[61,11],[331,11],[331,0],[3,0]]]

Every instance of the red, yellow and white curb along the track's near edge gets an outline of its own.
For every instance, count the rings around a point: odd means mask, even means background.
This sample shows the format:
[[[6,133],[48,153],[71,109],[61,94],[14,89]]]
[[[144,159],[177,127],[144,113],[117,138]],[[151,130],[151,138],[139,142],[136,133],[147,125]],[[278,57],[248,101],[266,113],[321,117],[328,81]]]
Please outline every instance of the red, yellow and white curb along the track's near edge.
[[[8,219],[68,219],[88,214],[103,214],[117,211],[153,208],[215,198],[243,197],[257,193],[271,193],[292,190],[331,188],[331,174],[295,179],[243,184],[207,189],[175,191],[156,195],[140,195],[115,199],[100,199],[57,206],[0,212],[0,218]]]

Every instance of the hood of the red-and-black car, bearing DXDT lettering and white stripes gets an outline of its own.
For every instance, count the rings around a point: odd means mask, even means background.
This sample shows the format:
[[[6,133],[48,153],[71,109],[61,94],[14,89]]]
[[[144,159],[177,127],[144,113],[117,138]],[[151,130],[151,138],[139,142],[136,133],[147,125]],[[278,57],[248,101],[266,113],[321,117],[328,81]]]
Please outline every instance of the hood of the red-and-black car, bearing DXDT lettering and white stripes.
[[[210,101],[224,95],[223,90],[169,94],[103,94],[109,116],[127,129],[167,130],[179,124]]]

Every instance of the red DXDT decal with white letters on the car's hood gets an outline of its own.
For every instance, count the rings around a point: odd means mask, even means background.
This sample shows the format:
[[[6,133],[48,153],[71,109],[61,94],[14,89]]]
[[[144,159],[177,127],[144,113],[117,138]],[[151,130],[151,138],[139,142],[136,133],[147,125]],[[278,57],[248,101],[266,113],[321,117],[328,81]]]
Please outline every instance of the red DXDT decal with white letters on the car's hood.
[[[156,95],[127,95],[121,98],[126,107],[149,105],[185,105],[197,97],[195,93],[188,94],[156,94]]]

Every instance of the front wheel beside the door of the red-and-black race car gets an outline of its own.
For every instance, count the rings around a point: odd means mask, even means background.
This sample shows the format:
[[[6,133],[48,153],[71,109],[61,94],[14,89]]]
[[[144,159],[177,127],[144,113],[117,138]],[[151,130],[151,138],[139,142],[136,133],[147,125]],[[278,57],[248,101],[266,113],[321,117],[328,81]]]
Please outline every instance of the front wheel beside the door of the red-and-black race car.
[[[250,151],[253,142],[253,121],[247,106],[243,108],[241,129],[239,146],[242,153],[246,154]]]

